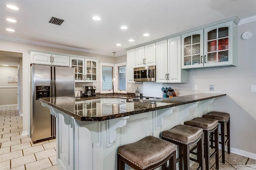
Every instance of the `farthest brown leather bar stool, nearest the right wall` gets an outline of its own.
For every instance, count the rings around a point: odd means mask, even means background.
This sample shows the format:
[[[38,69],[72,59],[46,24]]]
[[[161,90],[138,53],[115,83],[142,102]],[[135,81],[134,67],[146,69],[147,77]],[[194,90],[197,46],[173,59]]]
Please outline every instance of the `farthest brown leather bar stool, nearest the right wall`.
[[[203,115],[210,119],[216,119],[220,123],[220,137],[221,141],[221,152],[222,152],[222,163],[225,164],[225,145],[228,144],[228,153],[230,154],[230,114],[218,111],[211,111],[210,113]],[[225,128],[226,124],[226,128]],[[227,133],[227,135],[225,135]],[[225,141],[225,137],[227,137]]]

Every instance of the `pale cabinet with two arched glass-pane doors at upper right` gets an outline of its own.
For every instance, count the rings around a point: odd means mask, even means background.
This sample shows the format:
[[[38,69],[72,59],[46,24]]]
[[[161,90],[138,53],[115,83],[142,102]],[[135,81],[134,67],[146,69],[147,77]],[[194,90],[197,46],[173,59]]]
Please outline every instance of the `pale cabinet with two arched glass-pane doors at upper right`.
[[[234,21],[182,35],[182,68],[237,66]]]

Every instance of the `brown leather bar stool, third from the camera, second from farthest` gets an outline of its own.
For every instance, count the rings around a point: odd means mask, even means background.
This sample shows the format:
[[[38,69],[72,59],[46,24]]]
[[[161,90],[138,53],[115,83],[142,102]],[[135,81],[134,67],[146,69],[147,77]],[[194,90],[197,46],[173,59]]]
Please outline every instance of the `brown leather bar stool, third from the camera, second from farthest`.
[[[200,127],[204,132],[204,157],[205,157],[205,168],[210,169],[210,159],[215,155],[216,169],[219,169],[219,135],[218,135],[218,121],[206,117],[196,117],[191,121],[185,121],[185,125]],[[209,133],[214,133],[214,152],[210,155],[209,153]]]

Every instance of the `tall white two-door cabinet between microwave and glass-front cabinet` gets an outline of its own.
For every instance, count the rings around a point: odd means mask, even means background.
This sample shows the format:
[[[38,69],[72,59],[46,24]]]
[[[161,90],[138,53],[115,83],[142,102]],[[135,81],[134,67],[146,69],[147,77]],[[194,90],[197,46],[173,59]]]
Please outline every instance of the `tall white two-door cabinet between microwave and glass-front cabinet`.
[[[187,82],[187,72],[181,69],[180,36],[156,42],[156,82]]]

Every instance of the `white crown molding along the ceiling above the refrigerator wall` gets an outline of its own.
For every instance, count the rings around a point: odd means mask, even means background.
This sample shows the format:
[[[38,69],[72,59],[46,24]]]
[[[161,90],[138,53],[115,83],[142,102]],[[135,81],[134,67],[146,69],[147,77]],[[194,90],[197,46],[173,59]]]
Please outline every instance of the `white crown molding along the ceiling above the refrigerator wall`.
[[[101,53],[101,52],[98,52],[98,51],[90,51],[90,50],[86,50],[86,49],[68,47],[68,46],[64,46],[64,45],[56,45],[56,44],[50,44],[50,43],[42,43],[42,42],[37,42],[37,41],[27,41],[27,40],[24,40],[24,39],[15,39],[15,38],[4,37],[4,36],[0,36],[0,39],[2,39],[2,40],[7,40],[7,41],[16,41],[16,42],[19,42],[19,43],[28,43],[28,44],[33,44],[33,45],[41,45],[41,46],[46,46],[46,47],[54,47],[54,48],[58,48],[58,49],[66,49],[66,50],[72,50],[72,51],[80,51],[80,52],[86,52],[86,53],[92,53],[92,54],[99,54],[99,55],[106,55],[106,56],[113,57],[113,55],[110,55],[110,54],[107,54],[107,53]],[[122,56],[122,55],[126,55],[126,53],[116,55],[115,57]]]

